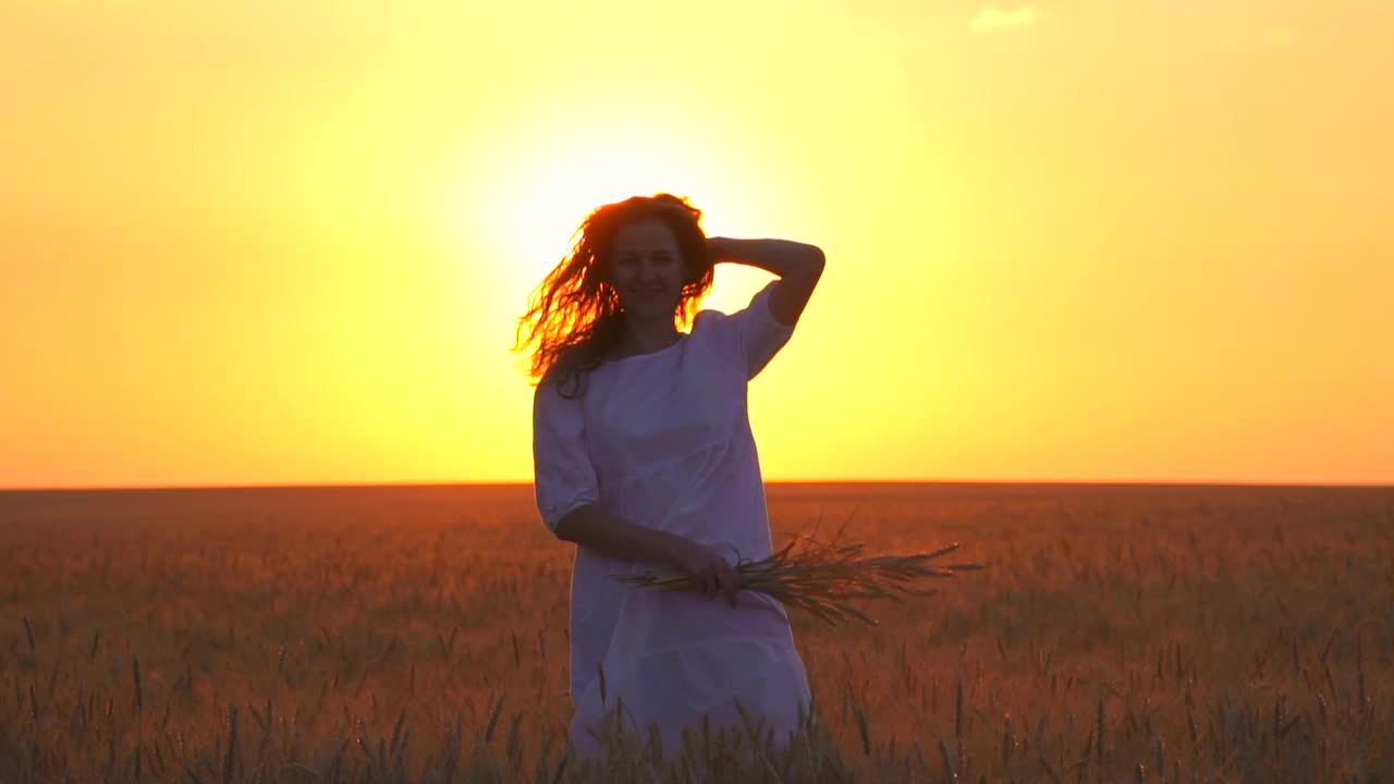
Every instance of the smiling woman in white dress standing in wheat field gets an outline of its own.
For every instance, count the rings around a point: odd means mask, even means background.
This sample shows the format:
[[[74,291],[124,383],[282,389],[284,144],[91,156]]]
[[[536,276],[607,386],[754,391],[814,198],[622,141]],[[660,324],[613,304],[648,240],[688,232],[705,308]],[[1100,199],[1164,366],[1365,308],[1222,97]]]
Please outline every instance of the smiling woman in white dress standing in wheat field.
[[[618,716],[664,749],[684,727],[740,727],[781,745],[810,695],[782,605],[743,591],[733,564],[769,555],[746,385],[789,340],[824,268],[786,240],[707,237],[701,211],[669,194],[594,211],[538,289],[533,407],[537,505],[577,544],[572,579],[570,738],[599,751]],[[779,276],[726,315],[687,315],[718,262]],[[616,575],[677,569],[701,593],[657,593]],[[736,698],[740,707],[736,706]]]

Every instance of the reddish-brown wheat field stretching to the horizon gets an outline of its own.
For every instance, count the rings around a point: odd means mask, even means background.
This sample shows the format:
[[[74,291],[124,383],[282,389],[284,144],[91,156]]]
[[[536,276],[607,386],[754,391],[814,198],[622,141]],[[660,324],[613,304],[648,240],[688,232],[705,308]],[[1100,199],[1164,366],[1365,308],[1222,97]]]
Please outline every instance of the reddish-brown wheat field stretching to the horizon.
[[[776,544],[987,568],[796,614],[785,752],[602,769],[565,755],[572,550],[528,485],[3,492],[0,784],[1394,781],[1394,488],[768,495]]]

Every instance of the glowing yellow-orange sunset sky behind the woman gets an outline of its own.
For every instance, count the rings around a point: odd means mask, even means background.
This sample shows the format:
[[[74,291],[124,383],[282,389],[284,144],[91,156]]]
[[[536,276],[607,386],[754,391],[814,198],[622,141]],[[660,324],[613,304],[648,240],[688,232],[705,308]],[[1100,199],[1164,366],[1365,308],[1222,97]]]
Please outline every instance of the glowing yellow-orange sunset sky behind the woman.
[[[0,0],[0,487],[531,481],[657,191],[827,255],[767,481],[1394,483],[1391,81],[1373,0]]]

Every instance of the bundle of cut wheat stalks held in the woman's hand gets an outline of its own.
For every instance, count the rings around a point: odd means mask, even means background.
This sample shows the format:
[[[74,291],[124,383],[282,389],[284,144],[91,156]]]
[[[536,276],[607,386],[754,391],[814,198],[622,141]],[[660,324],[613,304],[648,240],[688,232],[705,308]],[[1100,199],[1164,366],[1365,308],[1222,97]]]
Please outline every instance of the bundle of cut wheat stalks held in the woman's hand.
[[[905,596],[931,596],[938,589],[920,589],[913,583],[983,568],[981,564],[931,564],[958,550],[958,544],[910,555],[867,557],[864,548],[864,544],[828,544],[800,536],[768,558],[739,561],[736,571],[744,580],[744,590],[769,594],[785,607],[807,610],[832,625],[848,618],[874,625],[873,618],[848,600],[903,601]],[[658,591],[697,590],[696,580],[677,572],[644,572],[616,579]]]

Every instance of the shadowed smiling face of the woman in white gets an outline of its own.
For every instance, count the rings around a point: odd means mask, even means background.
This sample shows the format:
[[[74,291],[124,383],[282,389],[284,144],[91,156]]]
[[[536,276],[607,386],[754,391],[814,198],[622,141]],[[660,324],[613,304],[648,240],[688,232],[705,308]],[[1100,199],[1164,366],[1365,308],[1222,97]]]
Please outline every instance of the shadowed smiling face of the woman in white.
[[[672,315],[683,290],[683,254],[672,229],[659,220],[620,226],[615,232],[611,285],[626,311]]]

